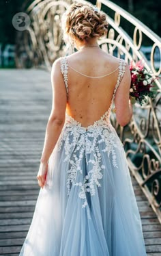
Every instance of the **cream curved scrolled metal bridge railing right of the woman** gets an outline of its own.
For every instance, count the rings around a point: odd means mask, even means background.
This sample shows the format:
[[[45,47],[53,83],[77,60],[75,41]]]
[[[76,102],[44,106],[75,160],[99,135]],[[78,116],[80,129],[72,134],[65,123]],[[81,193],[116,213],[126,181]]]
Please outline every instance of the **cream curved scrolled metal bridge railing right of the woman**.
[[[123,57],[128,63],[141,60],[147,70],[160,76],[161,38],[141,21],[108,0],[97,1],[98,8],[112,10],[108,16],[110,29],[100,46],[108,53]],[[122,23],[121,23],[122,21]],[[128,33],[128,31],[130,33]],[[143,54],[145,43],[151,45],[150,60]],[[161,222],[161,84],[156,80],[158,94],[154,101],[149,100],[142,107],[134,106],[134,115],[127,127],[119,127],[113,118],[126,149],[128,164],[147,196],[151,207]]]

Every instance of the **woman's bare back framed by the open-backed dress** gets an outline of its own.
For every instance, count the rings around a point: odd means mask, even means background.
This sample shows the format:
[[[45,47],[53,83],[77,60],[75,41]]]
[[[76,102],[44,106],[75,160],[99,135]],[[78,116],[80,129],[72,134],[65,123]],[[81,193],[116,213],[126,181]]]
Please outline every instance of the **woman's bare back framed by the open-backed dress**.
[[[66,58],[67,113],[83,127],[99,120],[109,109],[119,76],[119,59],[100,49],[90,50]],[[94,78],[100,76],[104,77]]]

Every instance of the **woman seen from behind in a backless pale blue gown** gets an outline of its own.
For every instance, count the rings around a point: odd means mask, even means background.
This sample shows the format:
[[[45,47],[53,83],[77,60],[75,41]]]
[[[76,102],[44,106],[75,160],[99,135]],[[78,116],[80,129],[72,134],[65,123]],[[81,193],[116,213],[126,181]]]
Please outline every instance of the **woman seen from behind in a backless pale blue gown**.
[[[106,14],[72,4],[65,39],[78,50],[55,61],[53,107],[38,172],[41,187],[22,256],[144,256],[141,219],[123,145],[109,116],[132,117],[130,71],[98,38]],[[48,162],[49,160],[49,162]]]

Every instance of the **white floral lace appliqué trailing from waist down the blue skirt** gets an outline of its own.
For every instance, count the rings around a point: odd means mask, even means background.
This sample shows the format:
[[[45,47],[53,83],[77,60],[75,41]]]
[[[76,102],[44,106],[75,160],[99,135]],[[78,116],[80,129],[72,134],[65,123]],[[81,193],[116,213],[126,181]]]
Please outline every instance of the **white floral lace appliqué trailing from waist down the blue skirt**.
[[[85,128],[81,127],[76,120],[67,116],[59,140],[58,149],[61,150],[63,146],[65,150],[63,161],[69,163],[66,183],[68,195],[72,185],[79,186],[81,191],[78,196],[84,200],[82,207],[87,205],[86,192],[94,196],[96,186],[101,186],[100,179],[102,179],[105,169],[104,164],[102,164],[102,153],[107,153],[108,157],[111,156],[113,166],[118,168],[115,148],[120,148],[123,145],[113,131],[112,125],[107,125],[107,123],[105,125],[104,121],[99,120],[99,125],[97,122]],[[102,144],[102,150],[100,150],[99,144]],[[90,165],[86,175],[82,170],[83,157],[85,157],[85,164]]]

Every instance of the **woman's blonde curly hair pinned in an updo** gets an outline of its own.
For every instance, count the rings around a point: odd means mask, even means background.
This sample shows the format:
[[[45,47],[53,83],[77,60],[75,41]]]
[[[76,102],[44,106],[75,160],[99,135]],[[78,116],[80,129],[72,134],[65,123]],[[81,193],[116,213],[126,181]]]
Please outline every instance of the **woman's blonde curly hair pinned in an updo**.
[[[100,38],[108,30],[106,14],[90,4],[73,3],[62,18],[63,38]]]

